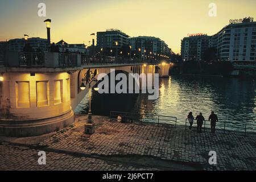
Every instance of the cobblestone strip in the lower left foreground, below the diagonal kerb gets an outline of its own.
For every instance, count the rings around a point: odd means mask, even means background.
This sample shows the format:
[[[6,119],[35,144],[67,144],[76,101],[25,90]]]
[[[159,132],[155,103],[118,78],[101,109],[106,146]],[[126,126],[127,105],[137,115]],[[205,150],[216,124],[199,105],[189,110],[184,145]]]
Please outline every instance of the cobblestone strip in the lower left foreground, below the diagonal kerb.
[[[153,168],[138,168],[131,165],[113,163],[106,160],[86,158],[55,152],[46,152],[46,165],[39,165],[39,150],[31,150],[28,147],[0,145],[0,170],[20,171],[152,171]]]

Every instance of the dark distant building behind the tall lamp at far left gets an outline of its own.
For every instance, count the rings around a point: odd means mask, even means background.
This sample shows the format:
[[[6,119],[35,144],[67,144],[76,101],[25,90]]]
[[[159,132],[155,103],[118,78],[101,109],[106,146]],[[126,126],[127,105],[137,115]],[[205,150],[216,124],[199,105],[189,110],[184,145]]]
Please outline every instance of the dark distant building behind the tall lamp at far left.
[[[30,44],[32,49],[40,48],[42,51],[47,51],[47,39],[42,38],[28,38],[27,43]],[[26,44],[25,39],[11,39],[8,42],[9,51],[23,51],[23,48]]]

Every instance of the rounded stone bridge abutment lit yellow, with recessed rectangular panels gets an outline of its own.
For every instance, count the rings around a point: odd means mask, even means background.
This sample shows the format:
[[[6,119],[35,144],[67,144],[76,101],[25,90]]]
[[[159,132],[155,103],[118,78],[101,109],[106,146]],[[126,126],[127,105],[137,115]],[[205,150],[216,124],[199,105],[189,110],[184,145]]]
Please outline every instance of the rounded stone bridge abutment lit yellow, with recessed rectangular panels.
[[[67,72],[4,74],[0,135],[28,137],[60,130],[74,121]]]

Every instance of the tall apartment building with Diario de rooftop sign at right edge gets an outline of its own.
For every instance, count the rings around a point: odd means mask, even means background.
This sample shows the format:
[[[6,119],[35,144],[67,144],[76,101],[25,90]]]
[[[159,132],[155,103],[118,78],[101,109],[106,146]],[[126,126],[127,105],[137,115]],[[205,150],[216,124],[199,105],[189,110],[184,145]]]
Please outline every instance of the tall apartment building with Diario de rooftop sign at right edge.
[[[217,56],[223,61],[256,60],[256,22],[252,18],[230,24],[214,35]]]

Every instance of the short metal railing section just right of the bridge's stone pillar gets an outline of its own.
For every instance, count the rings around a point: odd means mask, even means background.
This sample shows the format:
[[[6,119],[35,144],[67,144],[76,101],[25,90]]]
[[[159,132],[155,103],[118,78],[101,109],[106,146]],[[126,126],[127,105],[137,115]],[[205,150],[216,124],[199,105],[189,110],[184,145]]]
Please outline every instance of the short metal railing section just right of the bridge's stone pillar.
[[[60,67],[76,67],[77,54],[76,53],[59,53]]]

